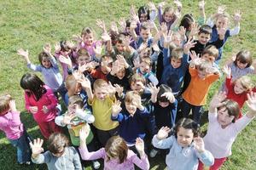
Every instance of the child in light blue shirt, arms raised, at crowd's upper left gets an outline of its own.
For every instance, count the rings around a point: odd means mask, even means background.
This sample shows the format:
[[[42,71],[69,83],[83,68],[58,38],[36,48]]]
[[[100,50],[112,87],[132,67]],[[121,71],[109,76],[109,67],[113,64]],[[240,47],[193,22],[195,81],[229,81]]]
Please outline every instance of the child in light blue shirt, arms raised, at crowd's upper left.
[[[54,93],[61,94],[61,98],[65,100],[67,89],[63,82],[61,72],[55,57],[50,53],[51,47],[49,44],[44,46],[44,52],[38,55],[40,65],[33,65],[28,57],[28,50],[24,51],[22,48],[18,50],[18,54],[26,59],[26,65],[32,71],[40,71],[43,74],[44,82]],[[57,96],[57,95],[56,95]]]

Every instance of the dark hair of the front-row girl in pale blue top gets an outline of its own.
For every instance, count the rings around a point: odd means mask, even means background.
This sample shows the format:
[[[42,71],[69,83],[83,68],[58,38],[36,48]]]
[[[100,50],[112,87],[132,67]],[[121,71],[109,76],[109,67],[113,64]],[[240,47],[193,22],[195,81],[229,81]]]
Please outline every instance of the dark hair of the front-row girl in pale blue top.
[[[179,127],[183,127],[185,129],[191,129],[194,133],[194,137],[200,136],[200,125],[189,118],[180,119],[174,127],[174,135],[177,138],[177,132]]]

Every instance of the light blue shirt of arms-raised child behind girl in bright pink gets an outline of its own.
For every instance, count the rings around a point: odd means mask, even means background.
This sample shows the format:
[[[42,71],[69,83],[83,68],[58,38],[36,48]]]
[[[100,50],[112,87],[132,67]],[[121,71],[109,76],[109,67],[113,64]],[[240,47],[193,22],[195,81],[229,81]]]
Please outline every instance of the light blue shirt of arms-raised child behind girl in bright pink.
[[[55,92],[60,88],[63,79],[56,59],[54,57],[50,57],[49,61],[52,65],[50,68],[45,68],[43,65],[33,65],[32,63],[28,64],[27,67],[32,71],[41,72],[44,77],[45,84]]]

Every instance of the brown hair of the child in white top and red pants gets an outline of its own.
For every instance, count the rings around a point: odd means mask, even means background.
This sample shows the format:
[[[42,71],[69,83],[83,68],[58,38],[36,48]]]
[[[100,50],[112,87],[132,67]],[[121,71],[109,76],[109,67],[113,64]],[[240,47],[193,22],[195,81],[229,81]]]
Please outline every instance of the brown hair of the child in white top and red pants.
[[[221,102],[223,105],[219,106],[217,109],[218,111],[222,108],[226,108],[225,111],[228,111],[229,116],[235,116],[232,122],[236,122],[236,119],[239,116],[240,108],[236,101],[233,101],[231,99],[224,99],[223,102]]]

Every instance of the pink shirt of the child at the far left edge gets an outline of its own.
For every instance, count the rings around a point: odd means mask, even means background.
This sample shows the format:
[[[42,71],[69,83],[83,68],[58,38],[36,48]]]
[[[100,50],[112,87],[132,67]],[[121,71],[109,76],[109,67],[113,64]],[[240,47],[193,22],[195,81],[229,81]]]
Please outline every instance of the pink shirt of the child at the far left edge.
[[[0,116],[0,130],[2,130],[8,139],[19,139],[22,136],[24,127],[20,122],[19,111],[9,111]]]

